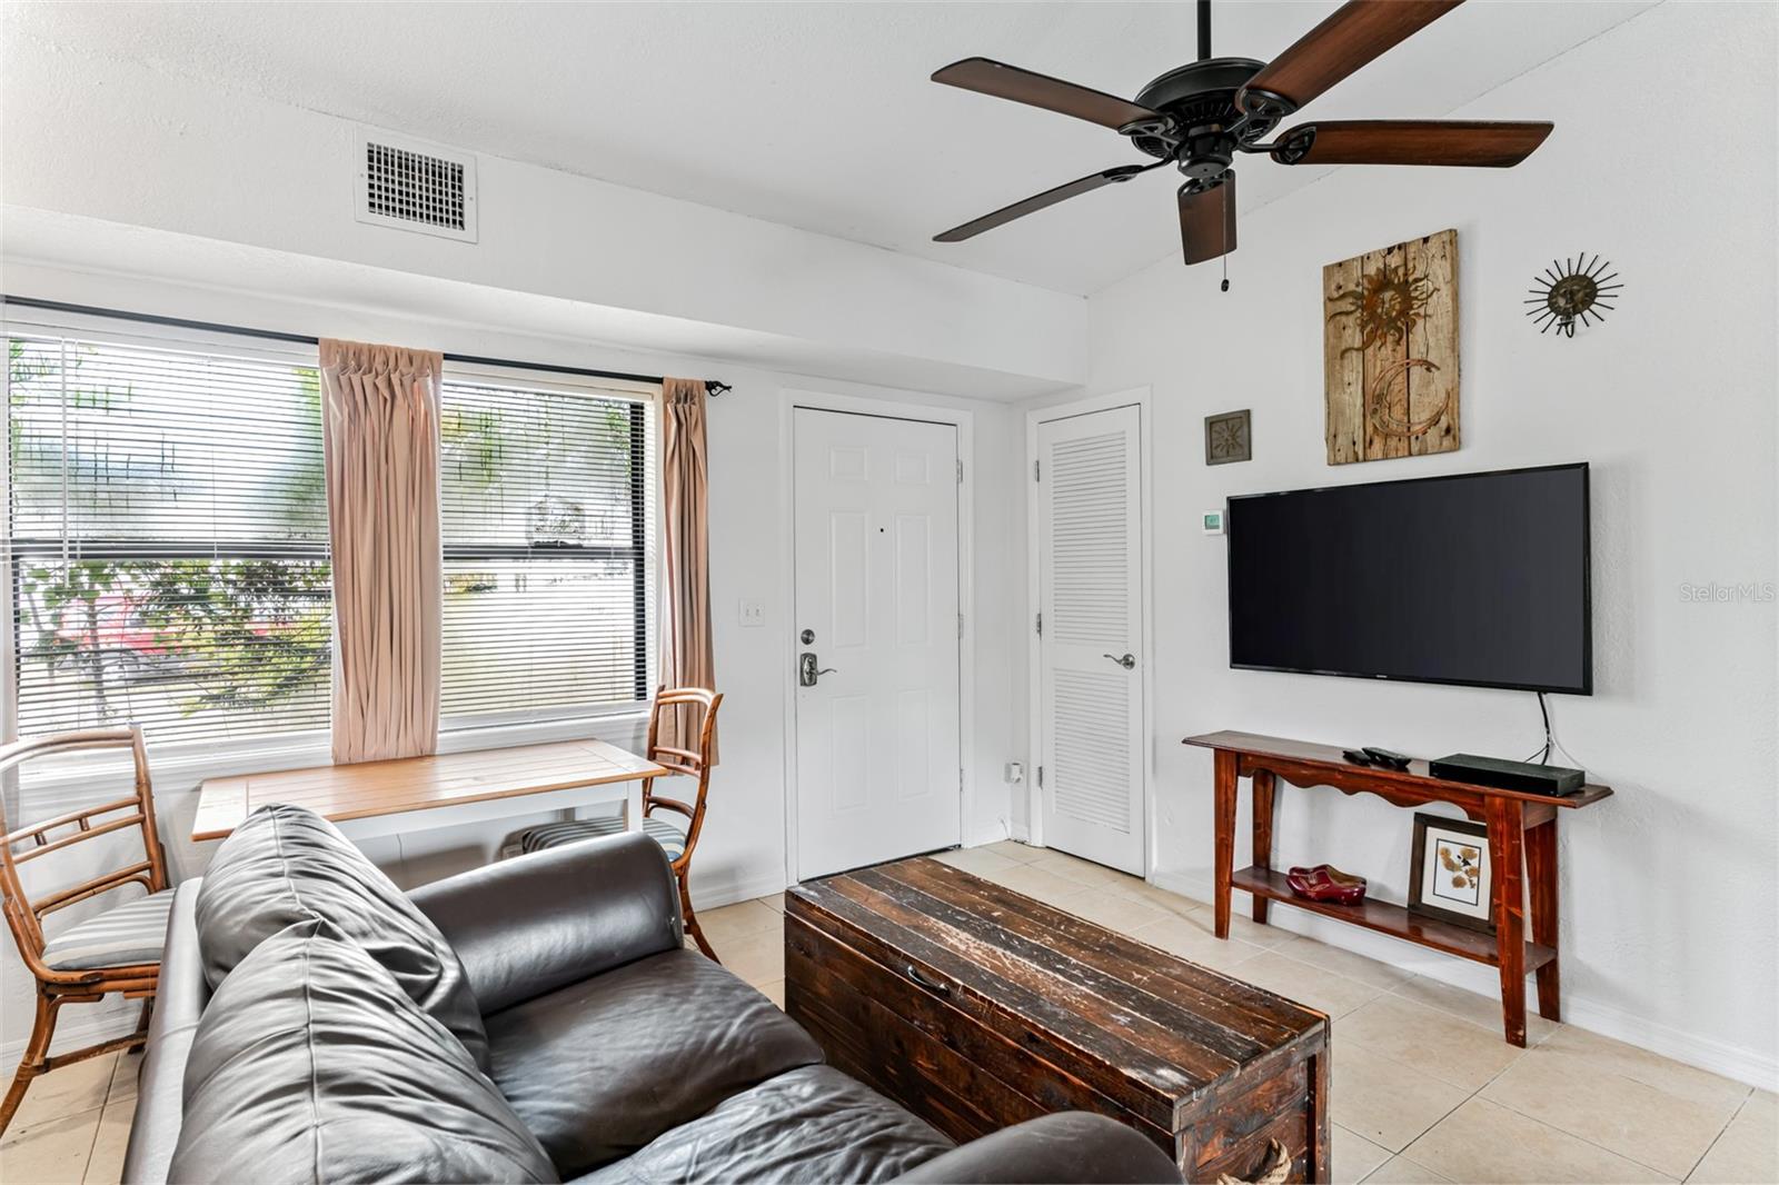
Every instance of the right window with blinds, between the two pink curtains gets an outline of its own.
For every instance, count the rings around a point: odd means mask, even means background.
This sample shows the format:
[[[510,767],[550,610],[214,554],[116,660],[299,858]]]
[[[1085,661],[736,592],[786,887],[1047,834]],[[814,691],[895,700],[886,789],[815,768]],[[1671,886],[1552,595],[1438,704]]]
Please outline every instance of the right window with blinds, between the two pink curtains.
[[[648,699],[648,406],[447,379],[441,728]]]

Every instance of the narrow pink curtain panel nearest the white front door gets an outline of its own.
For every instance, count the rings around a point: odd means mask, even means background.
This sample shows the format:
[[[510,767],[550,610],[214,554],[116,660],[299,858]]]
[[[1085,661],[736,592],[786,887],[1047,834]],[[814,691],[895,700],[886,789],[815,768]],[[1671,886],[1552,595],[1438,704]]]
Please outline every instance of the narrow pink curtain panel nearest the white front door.
[[[662,683],[717,689],[710,644],[710,479],[704,464],[704,383],[662,379],[662,516],[667,553],[667,612]],[[678,706],[662,717],[660,744],[697,749],[704,721]],[[717,749],[712,738],[712,763]]]

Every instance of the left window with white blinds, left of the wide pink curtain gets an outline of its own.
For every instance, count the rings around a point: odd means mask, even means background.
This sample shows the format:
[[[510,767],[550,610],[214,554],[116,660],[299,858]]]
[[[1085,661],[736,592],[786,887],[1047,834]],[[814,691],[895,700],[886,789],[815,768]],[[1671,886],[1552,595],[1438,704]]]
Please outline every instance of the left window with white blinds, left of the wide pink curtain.
[[[18,731],[324,730],[313,367],[59,336],[9,338],[7,361]]]

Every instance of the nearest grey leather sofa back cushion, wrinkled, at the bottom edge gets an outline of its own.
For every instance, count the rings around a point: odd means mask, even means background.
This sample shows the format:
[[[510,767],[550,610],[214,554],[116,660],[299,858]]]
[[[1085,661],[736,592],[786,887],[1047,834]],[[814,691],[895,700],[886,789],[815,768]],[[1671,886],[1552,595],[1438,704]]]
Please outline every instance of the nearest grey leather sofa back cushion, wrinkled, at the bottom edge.
[[[450,1032],[327,922],[262,941],[185,1064],[173,1181],[553,1181]]]

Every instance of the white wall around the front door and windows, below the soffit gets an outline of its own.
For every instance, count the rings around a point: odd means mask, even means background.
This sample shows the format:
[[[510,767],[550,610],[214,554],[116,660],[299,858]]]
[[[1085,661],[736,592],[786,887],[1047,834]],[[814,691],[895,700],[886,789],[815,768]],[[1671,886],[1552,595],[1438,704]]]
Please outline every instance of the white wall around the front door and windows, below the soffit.
[[[790,607],[783,601],[788,536],[781,528],[783,455],[781,415],[786,391],[824,391],[882,399],[904,407],[934,406],[961,409],[975,418],[975,452],[968,457],[975,482],[975,603],[968,612],[977,655],[975,730],[964,737],[966,779],[971,813],[964,840],[982,843],[1005,836],[1010,815],[1002,762],[1012,753],[1010,660],[1016,637],[1000,607],[1018,596],[1021,580],[1009,557],[1016,534],[1009,491],[1019,445],[1009,404],[961,400],[918,391],[833,383],[808,375],[713,365],[662,354],[548,340],[507,333],[475,331],[463,324],[441,326],[415,320],[402,310],[368,311],[313,302],[292,302],[247,292],[215,292],[165,285],[126,276],[73,272],[34,263],[5,263],[7,285],[43,299],[103,308],[126,308],[194,320],[279,326],[290,333],[398,342],[464,354],[519,358],[525,361],[596,367],[637,374],[690,374],[720,377],[733,391],[710,402],[710,541],[712,605],[715,625],[717,683],[724,692],[722,765],[712,779],[710,815],[694,861],[694,900],[719,906],[785,886],[785,683],[792,678]],[[765,626],[742,628],[737,609],[742,598],[765,601]],[[619,744],[640,740],[635,721],[612,721],[601,735]],[[153,740],[153,738],[151,738]],[[149,756],[155,756],[153,744]],[[288,765],[288,760],[283,762]],[[157,765],[155,795],[164,840],[176,879],[201,875],[212,843],[192,845],[192,811],[201,776],[242,770],[224,758],[208,770],[173,770]],[[366,843],[366,850],[404,884],[418,884],[484,861],[498,836],[521,826],[516,818],[489,827],[459,827],[415,833]],[[30,1023],[28,977],[14,957],[0,961],[0,1052],[7,1057],[23,1044]],[[82,1016],[87,1016],[82,1023]],[[69,1011],[64,1027],[71,1041],[93,1023],[105,1021]],[[116,1023],[116,1016],[110,1018]]]

